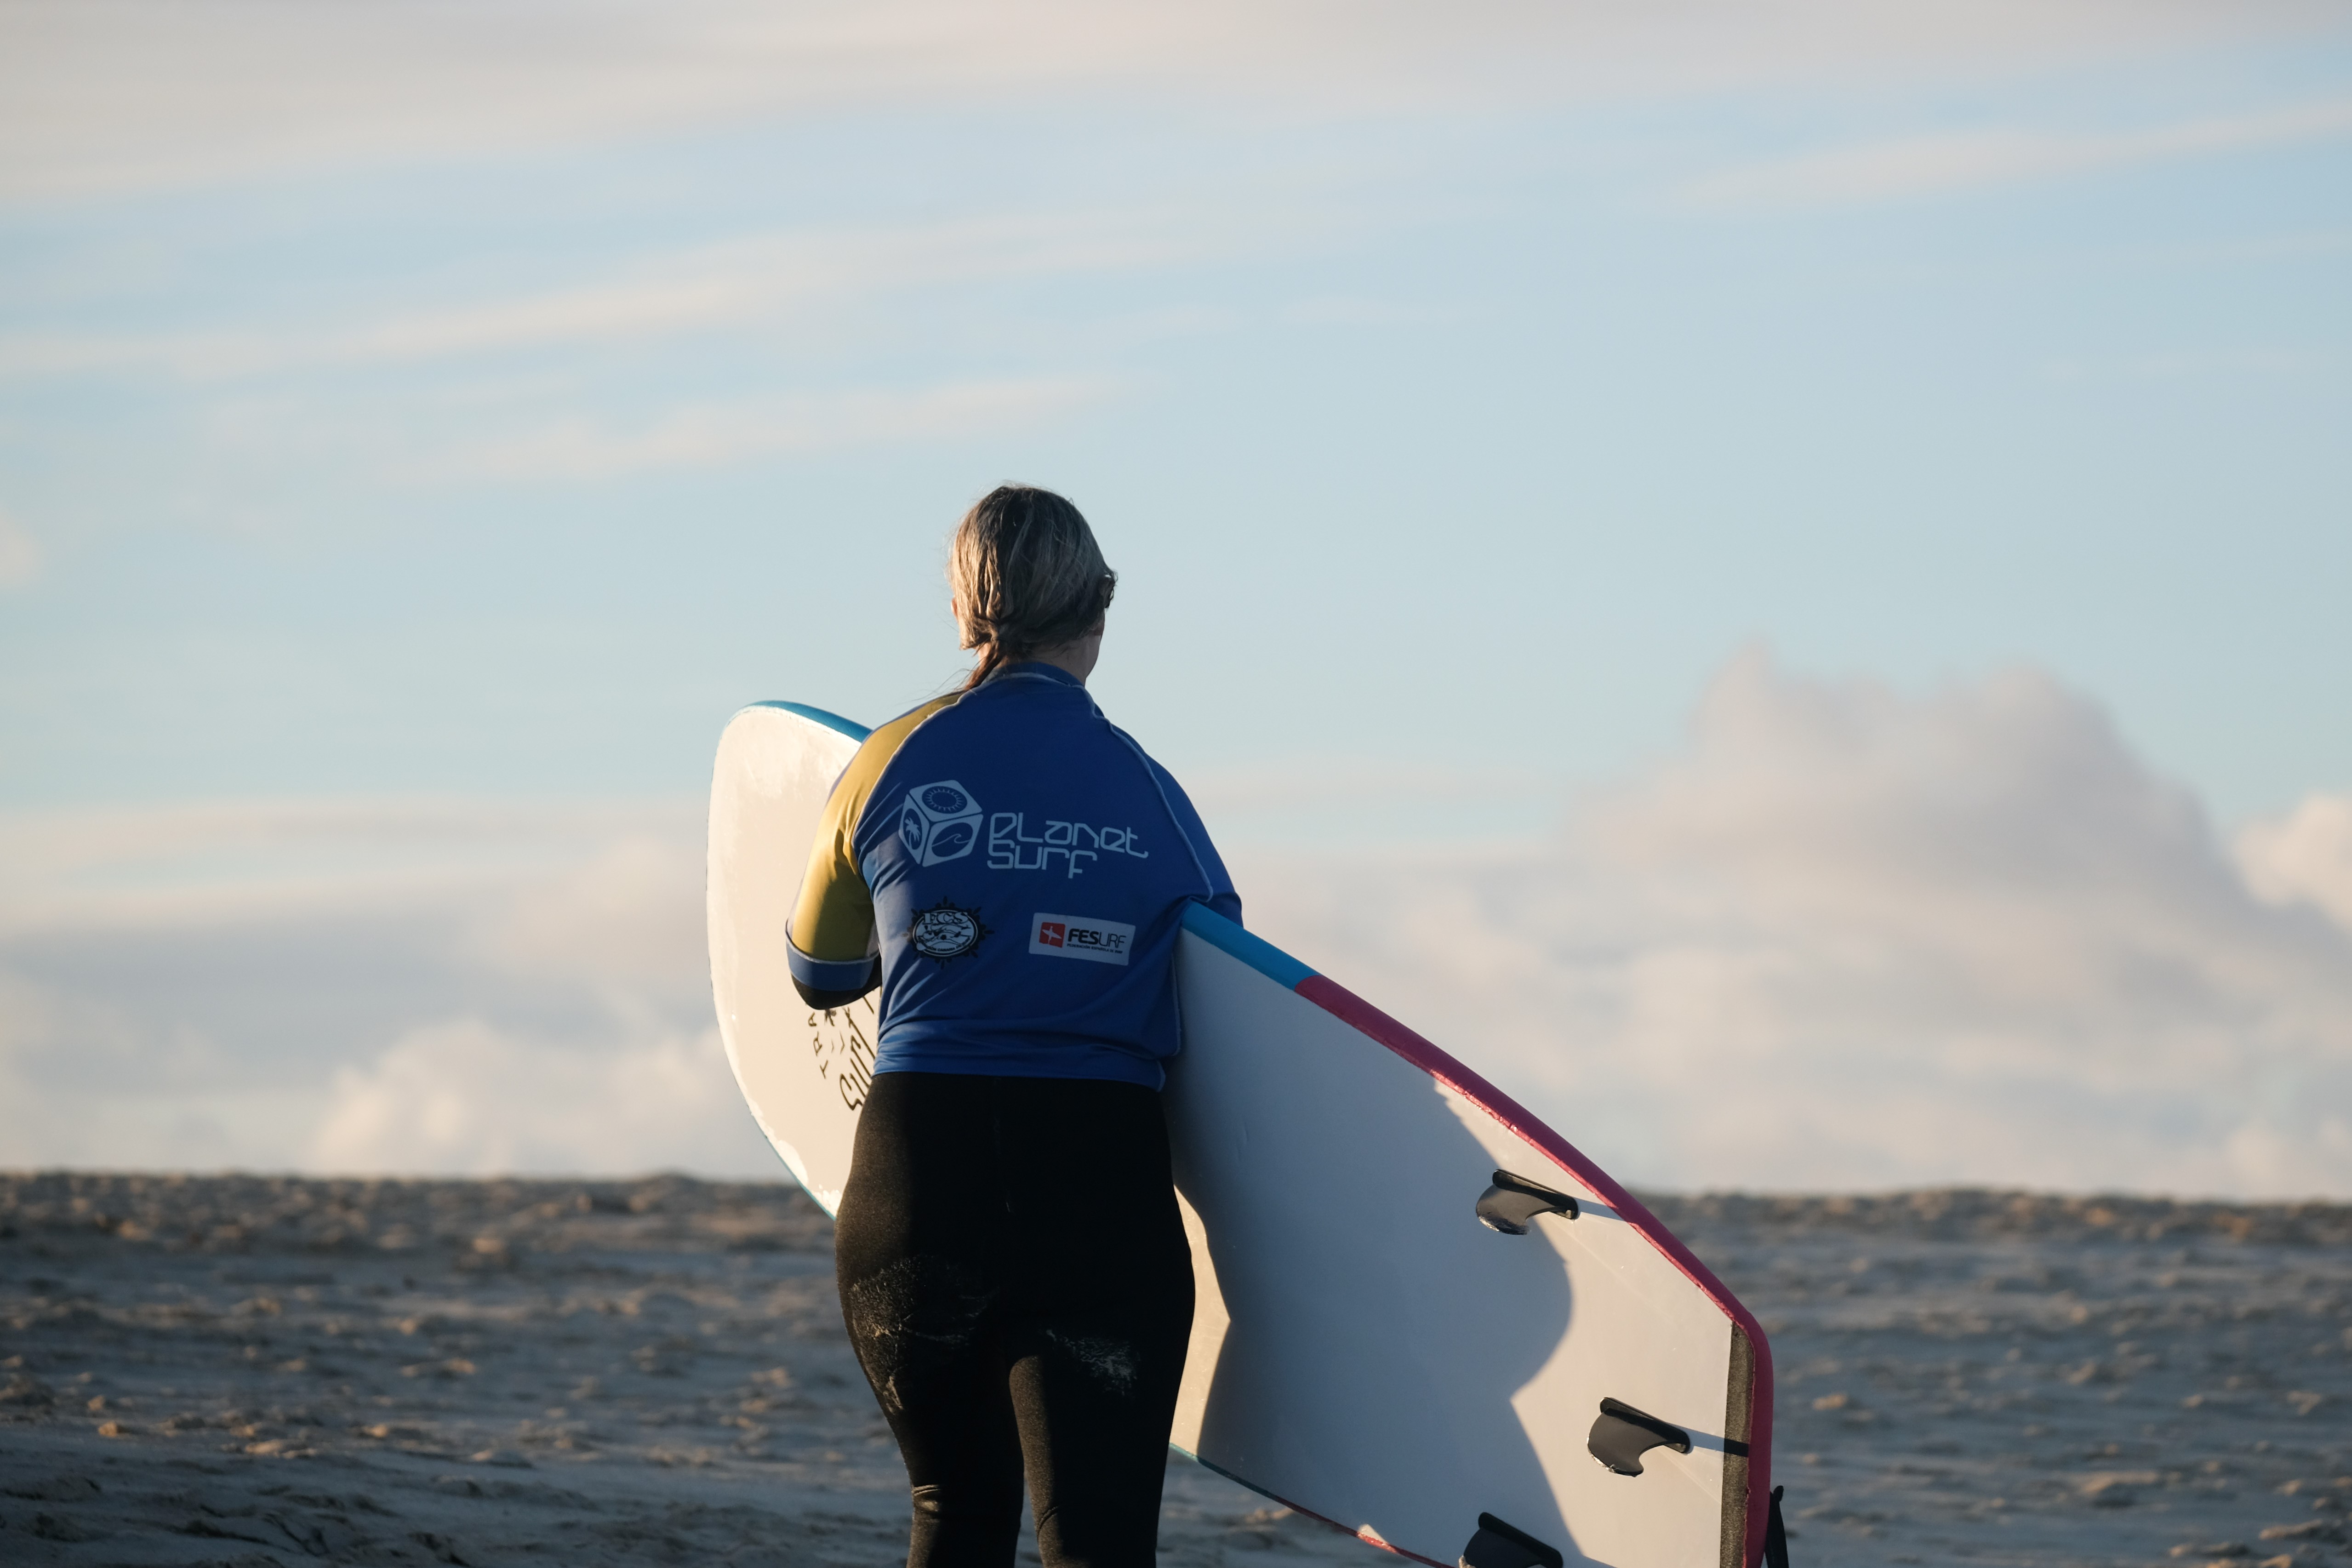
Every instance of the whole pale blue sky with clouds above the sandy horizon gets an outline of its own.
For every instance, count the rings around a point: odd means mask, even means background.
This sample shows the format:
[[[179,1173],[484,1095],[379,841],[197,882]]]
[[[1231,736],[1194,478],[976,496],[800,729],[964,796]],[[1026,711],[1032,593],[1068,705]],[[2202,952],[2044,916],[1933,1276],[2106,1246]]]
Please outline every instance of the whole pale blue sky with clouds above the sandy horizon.
[[[1621,1175],[2352,1194],[2347,428],[2347,5],[0,0],[0,1164],[769,1171],[717,729],[1028,480]]]

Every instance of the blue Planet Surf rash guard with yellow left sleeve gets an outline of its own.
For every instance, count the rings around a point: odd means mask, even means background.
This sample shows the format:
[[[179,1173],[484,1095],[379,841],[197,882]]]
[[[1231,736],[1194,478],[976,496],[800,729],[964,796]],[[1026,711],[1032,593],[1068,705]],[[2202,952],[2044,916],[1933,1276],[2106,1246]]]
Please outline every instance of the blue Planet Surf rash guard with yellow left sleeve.
[[[882,985],[875,1072],[1160,1088],[1188,903],[1242,900],[1192,802],[1084,682],[1021,663],[873,731],[793,910],[814,1006]]]

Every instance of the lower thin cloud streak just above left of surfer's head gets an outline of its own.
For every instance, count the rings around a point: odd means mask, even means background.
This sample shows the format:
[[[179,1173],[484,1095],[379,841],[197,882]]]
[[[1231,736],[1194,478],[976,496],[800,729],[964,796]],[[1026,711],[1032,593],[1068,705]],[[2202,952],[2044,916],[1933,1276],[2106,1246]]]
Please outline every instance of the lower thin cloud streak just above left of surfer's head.
[[[640,430],[562,421],[459,451],[440,475],[604,480],[649,468],[713,468],[776,451],[941,442],[1016,430],[1112,395],[1105,381],[971,381],[917,393],[826,393],[699,404]]]

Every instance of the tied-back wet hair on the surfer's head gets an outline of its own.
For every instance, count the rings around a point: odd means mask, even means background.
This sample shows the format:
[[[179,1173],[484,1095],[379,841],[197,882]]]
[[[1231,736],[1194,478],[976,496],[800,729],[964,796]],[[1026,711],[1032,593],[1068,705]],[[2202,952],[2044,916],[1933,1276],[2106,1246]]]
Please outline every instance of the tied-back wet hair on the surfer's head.
[[[981,651],[964,689],[1091,632],[1117,585],[1094,529],[1054,491],[1000,484],[981,496],[948,550],[964,646]]]

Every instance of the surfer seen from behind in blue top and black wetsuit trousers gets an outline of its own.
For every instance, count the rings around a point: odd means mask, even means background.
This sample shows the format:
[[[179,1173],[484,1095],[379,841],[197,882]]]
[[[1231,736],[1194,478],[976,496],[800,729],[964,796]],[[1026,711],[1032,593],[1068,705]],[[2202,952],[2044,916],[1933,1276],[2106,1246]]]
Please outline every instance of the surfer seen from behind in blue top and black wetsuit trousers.
[[[955,531],[964,686],[873,731],[793,910],[809,1006],[880,987],[842,1192],[842,1319],[906,1458],[910,1568],[1150,1568],[1192,1326],[1160,1112],[1188,903],[1240,898],[1094,698],[1117,576],[1075,505]]]

